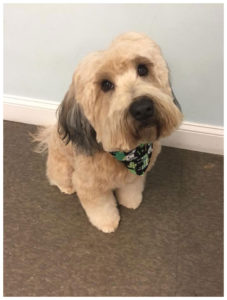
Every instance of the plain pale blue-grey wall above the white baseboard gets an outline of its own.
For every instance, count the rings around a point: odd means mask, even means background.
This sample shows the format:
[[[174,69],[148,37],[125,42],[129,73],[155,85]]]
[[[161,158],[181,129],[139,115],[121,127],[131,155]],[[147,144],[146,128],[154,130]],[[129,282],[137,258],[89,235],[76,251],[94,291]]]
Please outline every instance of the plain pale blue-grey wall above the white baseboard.
[[[79,60],[126,31],[161,46],[186,121],[223,125],[223,4],[5,4],[4,93],[60,102]]]

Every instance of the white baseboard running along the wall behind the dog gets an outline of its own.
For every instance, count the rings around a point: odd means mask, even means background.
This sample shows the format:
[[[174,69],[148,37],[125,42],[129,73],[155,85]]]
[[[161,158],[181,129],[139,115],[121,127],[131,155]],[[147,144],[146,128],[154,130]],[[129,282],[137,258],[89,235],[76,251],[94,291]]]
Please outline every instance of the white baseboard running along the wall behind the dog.
[[[4,119],[34,125],[56,122],[59,102],[4,95]],[[220,126],[183,122],[170,137],[162,140],[164,146],[224,154],[224,128]]]

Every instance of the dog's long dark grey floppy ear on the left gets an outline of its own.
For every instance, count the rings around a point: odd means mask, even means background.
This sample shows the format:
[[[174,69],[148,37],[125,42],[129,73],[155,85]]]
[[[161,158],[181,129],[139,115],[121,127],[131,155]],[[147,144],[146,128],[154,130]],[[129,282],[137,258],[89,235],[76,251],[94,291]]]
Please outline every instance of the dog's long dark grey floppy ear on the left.
[[[57,114],[58,133],[66,144],[71,141],[78,151],[87,155],[100,150],[101,147],[96,141],[96,132],[76,101],[73,84],[60,104]]]

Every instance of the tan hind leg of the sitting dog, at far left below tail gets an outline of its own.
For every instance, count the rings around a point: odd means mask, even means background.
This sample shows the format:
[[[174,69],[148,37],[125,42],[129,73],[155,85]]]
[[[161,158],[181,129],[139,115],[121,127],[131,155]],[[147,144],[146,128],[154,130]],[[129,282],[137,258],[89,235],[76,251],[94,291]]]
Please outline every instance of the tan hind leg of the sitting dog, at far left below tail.
[[[75,189],[72,184],[72,173],[74,168],[60,152],[48,151],[47,177],[51,185],[56,185],[61,192],[72,194]]]

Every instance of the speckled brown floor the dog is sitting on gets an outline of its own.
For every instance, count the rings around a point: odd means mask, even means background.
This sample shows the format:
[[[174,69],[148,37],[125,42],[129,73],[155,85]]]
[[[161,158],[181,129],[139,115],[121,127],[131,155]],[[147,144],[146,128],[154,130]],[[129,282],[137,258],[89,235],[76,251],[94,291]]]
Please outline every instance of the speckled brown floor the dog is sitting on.
[[[222,296],[223,157],[163,148],[136,211],[104,234],[4,122],[5,296]]]

